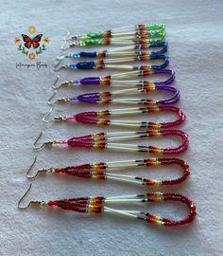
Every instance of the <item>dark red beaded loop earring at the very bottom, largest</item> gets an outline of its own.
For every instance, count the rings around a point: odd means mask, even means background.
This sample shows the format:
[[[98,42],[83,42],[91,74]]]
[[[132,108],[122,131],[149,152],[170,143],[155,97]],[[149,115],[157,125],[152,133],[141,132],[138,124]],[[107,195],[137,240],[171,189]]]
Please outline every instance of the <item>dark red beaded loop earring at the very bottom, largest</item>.
[[[32,205],[40,205],[47,207],[55,207],[63,210],[74,210],[81,213],[99,213],[99,212],[112,212],[131,218],[145,221],[159,226],[182,226],[186,225],[194,220],[196,217],[196,206],[194,203],[184,195],[173,192],[147,192],[146,194],[134,194],[134,195],[121,195],[104,197],[100,195],[90,197],[73,197],[70,199],[62,200],[50,200],[46,201],[30,201],[26,207],[22,207],[21,203],[24,200],[27,192],[30,191],[32,184],[30,184],[26,193],[20,198],[18,202],[18,208],[20,210],[26,210]],[[138,210],[120,210],[111,208],[112,204],[129,203],[129,205],[135,205],[139,203],[158,203],[164,201],[181,202],[185,204],[188,209],[188,215],[181,220],[170,220],[158,215],[154,215],[150,212],[138,211]]]

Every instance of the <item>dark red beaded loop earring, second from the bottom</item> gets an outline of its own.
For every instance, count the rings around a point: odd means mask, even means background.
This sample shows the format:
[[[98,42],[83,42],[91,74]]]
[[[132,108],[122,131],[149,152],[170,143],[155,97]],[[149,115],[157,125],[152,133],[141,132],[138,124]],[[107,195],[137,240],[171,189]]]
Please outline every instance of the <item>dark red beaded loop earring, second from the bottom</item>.
[[[124,181],[131,184],[138,185],[175,185],[184,181],[189,172],[189,165],[181,160],[180,158],[146,158],[137,160],[125,160],[125,161],[114,161],[114,162],[94,162],[92,164],[81,164],[76,166],[60,167],[60,168],[44,168],[38,170],[36,174],[30,175],[30,171],[36,163],[37,157],[35,156],[33,163],[26,172],[26,177],[34,178],[39,174],[68,174],[82,178],[92,178],[95,180],[117,180]],[[158,167],[158,166],[172,166],[178,165],[183,171],[183,174],[179,178],[175,179],[151,179],[140,176],[132,176],[126,174],[115,174],[112,171],[127,170],[129,168],[137,167]],[[150,170],[150,169],[149,169]],[[151,171],[151,170],[150,170]]]

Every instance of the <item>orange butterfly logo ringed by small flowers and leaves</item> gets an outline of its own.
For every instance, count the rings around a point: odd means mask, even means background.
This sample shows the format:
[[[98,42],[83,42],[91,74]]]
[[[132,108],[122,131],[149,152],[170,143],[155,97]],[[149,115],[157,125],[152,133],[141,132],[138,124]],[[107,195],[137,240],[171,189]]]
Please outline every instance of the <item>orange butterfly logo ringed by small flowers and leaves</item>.
[[[34,34],[36,27],[30,26],[27,30],[30,34]],[[34,37],[22,33],[21,36],[15,38],[14,42],[18,44],[18,50],[26,54],[27,58],[32,61],[46,50],[49,38],[44,36],[43,33],[38,33]]]

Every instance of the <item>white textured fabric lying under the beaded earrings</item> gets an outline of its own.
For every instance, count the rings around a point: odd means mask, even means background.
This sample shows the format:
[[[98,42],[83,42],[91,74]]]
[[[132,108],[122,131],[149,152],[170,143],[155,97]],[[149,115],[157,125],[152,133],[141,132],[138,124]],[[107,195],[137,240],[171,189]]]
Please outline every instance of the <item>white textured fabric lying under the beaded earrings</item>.
[[[223,2],[0,1],[0,9],[0,255],[222,255]],[[81,124],[46,126],[41,121],[55,79],[52,64],[60,52],[64,31],[79,33],[146,22],[166,24],[170,67],[176,71],[176,86],[181,94],[179,105],[187,115],[182,128],[190,135],[190,148],[180,157],[189,162],[191,177],[183,185],[163,188],[163,191],[182,192],[192,198],[197,205],[196,221],[188,227],[159,229],[112,214],[87,216],[40,208],[17,210],[18,198],[29,184],[25,172],[34,155],[31,144],[40,129],[43,129],[43,139],[102,129]],[[16,63],[28,61],[16,49],[14,37],[26,32],[30,25],[51,40],[46,52],[39,57],[38,61],[48,64],[41,70],[15,68]],[[86,72],[61,74],[61,80],[87,75]],[[64,89],[60,95],[75,92]],[[57,107],[63,114],[86,108],[96,109],[84,104]],[[44,150],[38,154],[36,168],[144,156]],[[112,185],[51,175],[33,181],[26,202],[31,198],[47,200],[98,192],[108,196],[146,191],[146,188],[123,183]],[[183,208],[173,205],[159,209],[172,217],[185,213]],[[152,207],[152,210],[158,208]]]

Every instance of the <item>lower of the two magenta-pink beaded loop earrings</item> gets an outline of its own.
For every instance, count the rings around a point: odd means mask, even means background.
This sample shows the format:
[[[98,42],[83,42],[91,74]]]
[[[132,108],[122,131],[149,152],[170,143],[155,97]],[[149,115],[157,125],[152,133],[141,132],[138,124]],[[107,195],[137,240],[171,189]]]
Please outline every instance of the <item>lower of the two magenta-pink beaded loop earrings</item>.
[[[42,137],[42,132],[33,144],[34,150],[41,150],[45,146],[60,145],[66,147],[83,147],[83,148],[96,148],[96,149],[113,149],[129,152],[144,152],[144,153],[156,153],[163,155],[180,154],[188,148],[188,135],[180,130],[158,129],[158,130],[146,130],[140,132],[116,132],[116,133],[94,133],[91,135],[81,137],[70,137],[65,140],[49,140],[43,142],[42,145],[36,146],[37,141]],[[180,146],[172,148],[163,148],[160,146],[143,146],[136,144],[121,143],[122,140],[129,140],[140,137],[165,137],[176,136],[182,139]],[[119,141],[118,143],[115,141]]]

